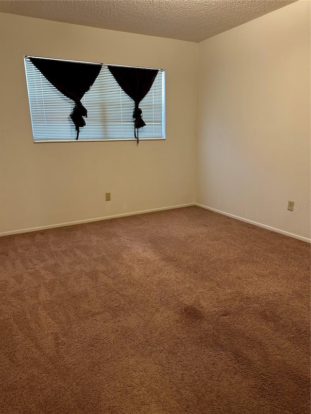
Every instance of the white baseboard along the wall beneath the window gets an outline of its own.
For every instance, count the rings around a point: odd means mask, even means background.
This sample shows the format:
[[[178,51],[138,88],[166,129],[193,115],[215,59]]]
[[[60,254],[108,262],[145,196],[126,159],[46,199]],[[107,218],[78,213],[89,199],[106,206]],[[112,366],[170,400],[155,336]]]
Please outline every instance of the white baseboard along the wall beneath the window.
[[[11,234],[29,233],[29,232],[37,232],[39,230],[54,229],[55,227],[74,226],[75,224],[91,223],[93,221],[102,221],[102,220],[108,220],[110,218],[126,217],[128,215],[138,215],[138,214],[152,213],[154,211],[172,210],[174,208],[189,207],[189,206],[193,206],[193,205],[195,205],[195,204],[194,203],[179,204],[177,206],[159,207],[159,208],[153,208],[153,209],[150,209],[150,210],[135,211],[135,212],[132,212],[132,213],[107,215],[106,217],[87,218],[86,220],[69,221],[68,223],[50,224],[49,226],[40,226],[40,227],[32,227],[32,228],[29,228],[29,229],[13,230],[11,232],[1,232],[0,237],[1,236],[9,236]]]

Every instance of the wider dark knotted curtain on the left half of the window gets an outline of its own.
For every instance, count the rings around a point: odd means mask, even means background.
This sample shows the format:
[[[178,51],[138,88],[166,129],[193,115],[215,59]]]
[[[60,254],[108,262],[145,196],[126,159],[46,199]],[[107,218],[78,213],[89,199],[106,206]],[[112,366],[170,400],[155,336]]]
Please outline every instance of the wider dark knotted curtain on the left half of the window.
[[[74,101],[75,105],[70,118],[75,125],[76,139],[78,139],[79,128],[86,125],[83,117],[87,117],[87,111],[81,99],[95,82],[102,65],[33,57],[29,59],[59,92]]]

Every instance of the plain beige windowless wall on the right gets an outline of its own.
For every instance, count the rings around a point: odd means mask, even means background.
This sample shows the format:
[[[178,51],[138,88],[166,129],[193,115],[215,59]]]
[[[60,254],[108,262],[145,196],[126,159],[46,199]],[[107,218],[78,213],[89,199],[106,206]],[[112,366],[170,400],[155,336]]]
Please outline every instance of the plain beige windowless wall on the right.
[[[199,44],[196,201],[310,238],[310,1]]]

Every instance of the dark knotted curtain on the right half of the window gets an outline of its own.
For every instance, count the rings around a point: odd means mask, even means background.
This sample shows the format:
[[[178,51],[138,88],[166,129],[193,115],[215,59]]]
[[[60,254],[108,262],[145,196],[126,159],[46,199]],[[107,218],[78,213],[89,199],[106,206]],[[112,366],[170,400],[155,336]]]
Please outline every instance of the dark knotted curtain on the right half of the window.
[[[142,111],[139,108],[139,103],[150,91],[158,70],[124,66],[108,66],[108,69],[123,91],[134,100],[134,135],[138,142],[138,128],[142,128],[146,125],[141,117]]]

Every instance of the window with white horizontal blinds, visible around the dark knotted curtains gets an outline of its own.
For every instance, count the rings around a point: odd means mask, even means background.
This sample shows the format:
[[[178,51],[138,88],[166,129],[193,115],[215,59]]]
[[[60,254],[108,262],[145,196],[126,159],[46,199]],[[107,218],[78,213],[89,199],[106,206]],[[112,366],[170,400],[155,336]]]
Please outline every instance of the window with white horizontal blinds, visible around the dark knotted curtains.
[[[69,117],[74,102],[52,86],[28,57],[24,60],[34,141],[75,141],[75,127]],[[150,91],[139,104],[146,123],[139,129],[139,139],[165,137],[164,87],[165,72],[159,69]],[[81,102],[87,109],[87,118],[79,141],[135,139],[134,102],[107,65],[102,66]]]

